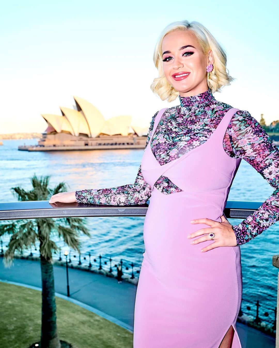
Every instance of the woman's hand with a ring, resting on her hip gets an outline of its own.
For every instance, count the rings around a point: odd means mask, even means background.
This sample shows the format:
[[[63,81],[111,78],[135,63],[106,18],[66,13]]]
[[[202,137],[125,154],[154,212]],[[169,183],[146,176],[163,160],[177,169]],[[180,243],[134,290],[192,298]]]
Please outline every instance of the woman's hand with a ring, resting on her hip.
[[[221,216],[222,222],[214,221],[211,219],[195,219],[190,221],[191,223],[203,223],[211,227],[201,228],[187,236],[187,238],[193,238],[197,236],[201,236],[203,234],[207,234],[202,236],[201,238],[197,238],[191,242],[191,244],[197,244],[200,242],[204,242],[206,240],[211,240],[208,236],[209,233],[214,232],[214,243],[209,244],[206,247],[203,247],[201,251],[208,251],[214,249],[218,246],[236,246],[237,245],[237,237],[232,229],[232,225],[228,222],[224,215]]]

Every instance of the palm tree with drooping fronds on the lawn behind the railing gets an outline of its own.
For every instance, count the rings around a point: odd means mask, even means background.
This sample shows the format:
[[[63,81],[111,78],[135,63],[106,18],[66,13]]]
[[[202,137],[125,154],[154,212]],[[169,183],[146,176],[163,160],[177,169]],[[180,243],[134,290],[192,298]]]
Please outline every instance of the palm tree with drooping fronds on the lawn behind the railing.
[[[48,187],[49,176],[31,178],[33,189],[25,191],[20,187],[13,187],[14,195],[20,201],[49,200],[52,195],[66,191],[66,184],[59,183],[54,189]],[[83,232],[90,236],[85,227],[84,219],[79,217],[65,217],[59,219],[32,219],[15,220],[0,224],[0,237],[10,235],[7,250],[4,253],[4,261],[9,265],[16,251],[22,252],[30,248],[36,242],[40,245],[40,266],[42,279],[42,312],[41,312],[41,339],[42,348],[60,348],[60,340],[56,326],[56,304],[52,255],[57,253],[59,247],[52,240],[59,236],[73,250],[80,252],[79,234]]]

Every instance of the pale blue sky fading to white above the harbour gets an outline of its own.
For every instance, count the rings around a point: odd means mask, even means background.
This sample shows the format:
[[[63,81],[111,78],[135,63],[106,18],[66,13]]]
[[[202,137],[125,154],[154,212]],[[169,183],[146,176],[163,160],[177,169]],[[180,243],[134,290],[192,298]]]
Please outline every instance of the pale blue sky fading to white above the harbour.
[[[279,119],[278,1],[6,1],[0,13],[0,133],[43,132],[41,113],[72,108],[73,95],[108,119],[153,114],[178,105],[150,90],[153,50],[171,22],[205,25],[227,53],[236,80],[217,100]]]

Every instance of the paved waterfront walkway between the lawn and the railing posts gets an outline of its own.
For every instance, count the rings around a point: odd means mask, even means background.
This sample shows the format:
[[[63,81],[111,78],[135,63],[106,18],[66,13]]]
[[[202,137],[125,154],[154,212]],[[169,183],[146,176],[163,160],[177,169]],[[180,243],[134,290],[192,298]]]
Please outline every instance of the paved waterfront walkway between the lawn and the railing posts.
[[[0,281],[16,282],[41,288],[40,263],[15,259],[14,266],[5,268],[0,259]],[[55,291],[67,295],[66,269],[54,266]],[[69,268],[72,302],[133,331],[134,303],[137,287],[128,282],[118,284],[116,278]],[[1,284],[0,284],[1,288]],[[64,296],[63,296],[64,297]],[[67,298],[68,299],[68,298]],[[79,302],[82,303],[79,303]],[[237,322],[242,348],[274,348],[275,339]]]

